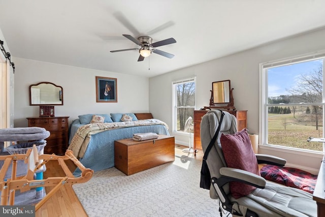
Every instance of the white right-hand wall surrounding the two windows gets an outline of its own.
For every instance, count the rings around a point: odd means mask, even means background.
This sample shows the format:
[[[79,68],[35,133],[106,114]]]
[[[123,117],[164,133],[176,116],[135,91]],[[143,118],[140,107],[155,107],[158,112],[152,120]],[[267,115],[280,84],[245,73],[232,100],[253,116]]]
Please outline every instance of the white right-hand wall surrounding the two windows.
[[[247,129],[249,133],[258,134],[259,63],[325,49],[324,37],[325,29],[318,29],[314,32],[279,40],[214,59],[207,63],[150,78],[149,110],[156,117],[167,121],[168,125],[171,126],[172,81],[197,76],[197,106],[199,109],[209,105],[213,81],[230,79],[231,86],[235,88],[233,95],[236,109],[248,110]],[[174,136],[179,143],[188,144],[188,136],[179,134]],[[306,167],[308,170],[318,170],[322,157],[321,154],[311,154],[310,156],[303,155],[302,158],[301,156],[298,157],[297,153],[292,154],[281,149],[274,151],[260,148],[259,152],[276,154],[279,157],[286,158],[289,165]],[[302,161],[302,159],[304,160]]]

